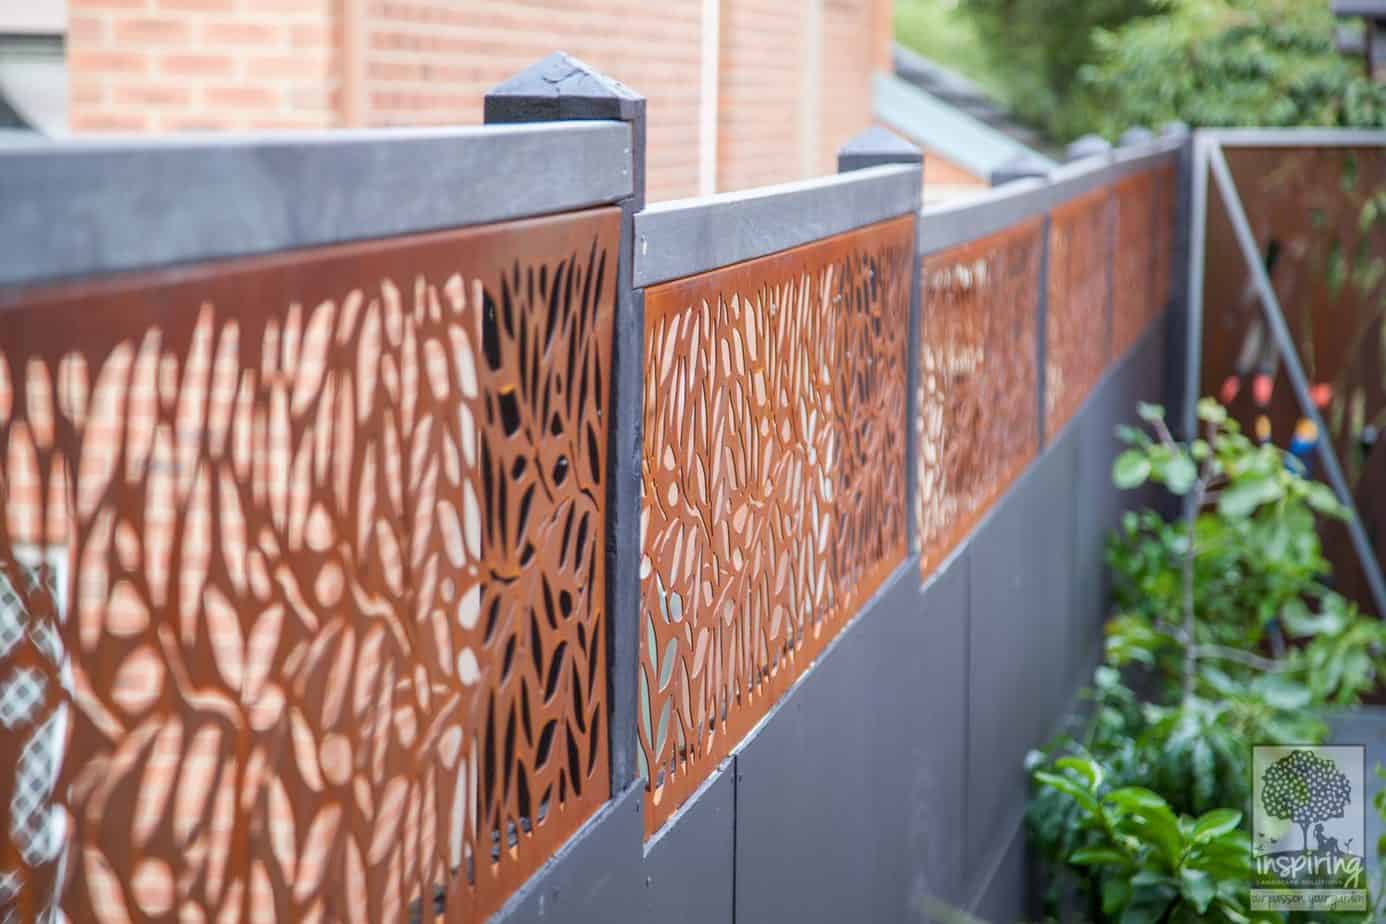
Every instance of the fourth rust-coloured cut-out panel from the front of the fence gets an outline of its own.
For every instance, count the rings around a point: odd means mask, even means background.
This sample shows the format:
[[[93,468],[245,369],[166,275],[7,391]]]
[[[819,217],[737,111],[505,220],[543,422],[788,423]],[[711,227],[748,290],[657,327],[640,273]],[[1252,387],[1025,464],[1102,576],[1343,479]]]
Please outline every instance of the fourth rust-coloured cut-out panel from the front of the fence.
[[[1103,187],[1053,209],[1045,321],[1045,442],[1063,429],[1112,356],[1107,299],[1114,215]]]

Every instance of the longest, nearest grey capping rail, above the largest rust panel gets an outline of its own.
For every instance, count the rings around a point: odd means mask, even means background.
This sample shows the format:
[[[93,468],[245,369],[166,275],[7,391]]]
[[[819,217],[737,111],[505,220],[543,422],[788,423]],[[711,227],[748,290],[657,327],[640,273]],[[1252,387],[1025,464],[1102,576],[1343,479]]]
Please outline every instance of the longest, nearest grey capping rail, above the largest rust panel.
[[[484,224],[631,191],[620,122],[0,147],[0,285]]]

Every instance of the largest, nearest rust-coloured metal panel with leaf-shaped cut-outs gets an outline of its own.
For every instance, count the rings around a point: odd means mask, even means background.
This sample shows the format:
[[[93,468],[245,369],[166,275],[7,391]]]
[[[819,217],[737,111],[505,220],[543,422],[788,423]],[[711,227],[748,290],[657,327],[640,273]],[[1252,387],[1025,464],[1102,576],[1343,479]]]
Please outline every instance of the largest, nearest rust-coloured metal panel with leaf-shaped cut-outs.
[[[474,921],[608,798],[618,234],[11,299],[0,906]]]

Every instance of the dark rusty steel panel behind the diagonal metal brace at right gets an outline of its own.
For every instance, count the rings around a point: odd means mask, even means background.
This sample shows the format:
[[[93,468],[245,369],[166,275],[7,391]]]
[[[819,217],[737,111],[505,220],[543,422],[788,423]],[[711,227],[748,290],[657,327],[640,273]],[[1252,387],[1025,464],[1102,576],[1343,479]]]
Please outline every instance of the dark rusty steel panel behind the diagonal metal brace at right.
[[[1369,536],[1386,535],[1386,145],[1222,148],[1328,438]],[[1263,317],[1221,198],[1209,197],[1200,395],[1322,477],[1315,441]],[[1322,528],[1335,583],[1372,605],[1347,531]],[[1386,567],[1386,554],[1378,549]]]

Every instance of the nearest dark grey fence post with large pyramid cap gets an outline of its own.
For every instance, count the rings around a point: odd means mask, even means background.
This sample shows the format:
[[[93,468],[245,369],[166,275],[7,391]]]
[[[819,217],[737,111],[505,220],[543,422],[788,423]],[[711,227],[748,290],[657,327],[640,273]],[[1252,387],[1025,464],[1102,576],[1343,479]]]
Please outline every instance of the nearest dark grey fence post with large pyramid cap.
[[[621,202],[615,342],[607,431],[607,715],[611,795],[636,776],[635,693],[640,618],[640,449],[644,296],[631,280],[635,213],[644,208],[644,97],[561,51],[486,94],[486,123],[610,119],[631,126],[632,194]],[[556,152],[560,155],[561,152]],[[543,177],[535,177],[543,181]]]

